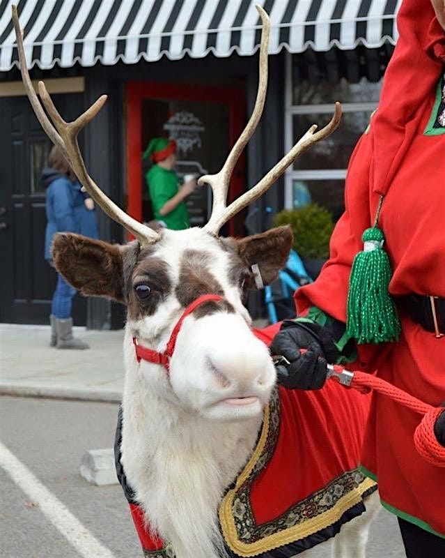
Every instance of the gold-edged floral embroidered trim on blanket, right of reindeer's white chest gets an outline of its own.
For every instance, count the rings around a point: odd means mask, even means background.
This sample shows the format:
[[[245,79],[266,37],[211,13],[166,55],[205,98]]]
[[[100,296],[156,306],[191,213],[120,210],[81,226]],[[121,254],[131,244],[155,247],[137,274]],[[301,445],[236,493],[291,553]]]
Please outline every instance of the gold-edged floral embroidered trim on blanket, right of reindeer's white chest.
[[[235,487],[228,490],[219,507],[224,539],[237,556],[250,557],[270,552],[318,533],[336,522],[343,522],[343,514],[357,504],[363,505],[363,497],[376,488],[372,479],[366,478],[358,469],[352,469],[297,502],[276,520],[256,525],[250,501],[251,484],[274,453],[279,423],[280,400],[278,391],[275,391],[265,409],[256,450],[237,478]]]

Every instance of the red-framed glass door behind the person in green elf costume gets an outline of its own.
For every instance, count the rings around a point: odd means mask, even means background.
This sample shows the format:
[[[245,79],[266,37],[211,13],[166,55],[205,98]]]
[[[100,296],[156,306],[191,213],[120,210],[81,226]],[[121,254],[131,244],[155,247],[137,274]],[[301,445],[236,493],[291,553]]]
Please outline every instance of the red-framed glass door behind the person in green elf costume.
[[[178,174],[218,172],[244,128],[244,91],[212,86],[159,82],[127,84],[127,212],[147,220],[143,200],[147,187],[143,151],[151,137],[173,137],[178,146]],[[233,172],[228,202],[244,192],[244,155]],[[149,203],[149,202],[148,202]],[[192,226],[203,225],[210,213],[208,187],[187,198]],[[235,216],[224,231],[244,234],[244,217]]]

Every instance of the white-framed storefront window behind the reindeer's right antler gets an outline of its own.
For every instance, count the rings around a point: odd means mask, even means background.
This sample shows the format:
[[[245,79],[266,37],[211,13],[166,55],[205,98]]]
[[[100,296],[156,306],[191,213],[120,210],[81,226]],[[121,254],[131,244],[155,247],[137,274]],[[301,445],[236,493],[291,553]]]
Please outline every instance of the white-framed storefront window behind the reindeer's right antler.
[[[342,104],[343,115],[333,134],[312,146],[286,171],[285,206],[294,209],[315,202],[329,209],[334,220],[338,220],[344,211],[348,162],[377,107],[382,80],[372,82],[366,77],[355,83],[346,77],[334,80],[328,78],[327,68],[320,70],[318,66],[320,72],[314,74],[295,56],[290,56],[288,62],[287,151],[312,124],[326,126],[337,100]]]

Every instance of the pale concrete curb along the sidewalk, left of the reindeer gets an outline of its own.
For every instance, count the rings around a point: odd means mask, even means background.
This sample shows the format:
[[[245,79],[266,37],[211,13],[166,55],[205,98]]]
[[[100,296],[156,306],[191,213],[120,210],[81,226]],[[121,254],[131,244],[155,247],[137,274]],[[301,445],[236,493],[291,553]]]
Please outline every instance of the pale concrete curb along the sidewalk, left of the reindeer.
[[[0,384],[0,395],[15,395],[17,397],[36,397],[47,399],[68,399],[77,401],[98,401],[106,403],[122,402],[119,391],[101,391],[81,388],[49,388],[38,386],[17,386],[14,384]]]

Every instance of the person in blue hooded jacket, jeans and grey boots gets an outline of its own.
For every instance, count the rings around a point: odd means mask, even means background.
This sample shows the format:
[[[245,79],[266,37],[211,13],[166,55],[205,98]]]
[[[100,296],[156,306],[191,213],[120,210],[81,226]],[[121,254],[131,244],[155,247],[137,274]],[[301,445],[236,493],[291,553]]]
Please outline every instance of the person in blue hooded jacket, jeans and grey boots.
[[[82,191],[81,185],[61,150],[54,146],[49,152],[49,167],[42,170],[40,182],[46,190],[47,227],[45,259],[52,265],[51,245],[56,232],[77,232],[97,239],[97,218],[94,202]],[[88,349],[88,345],[72,335],[72,299],[76,290],[57,273],[52,298],[51,340],[58,349]]]

